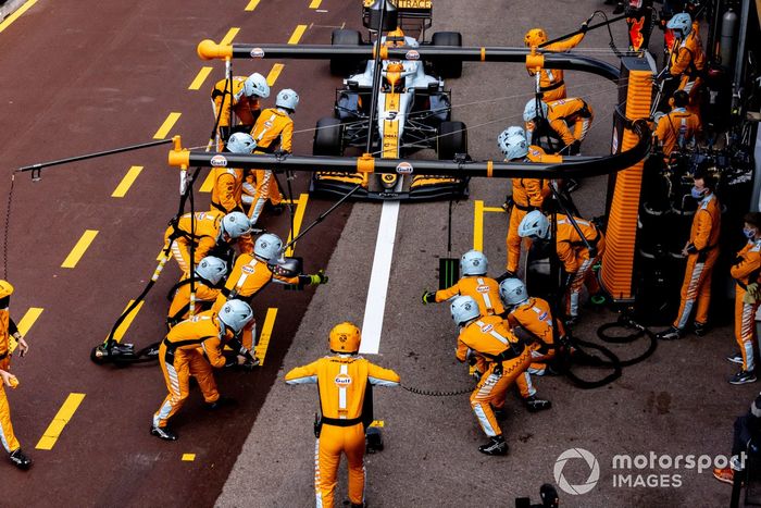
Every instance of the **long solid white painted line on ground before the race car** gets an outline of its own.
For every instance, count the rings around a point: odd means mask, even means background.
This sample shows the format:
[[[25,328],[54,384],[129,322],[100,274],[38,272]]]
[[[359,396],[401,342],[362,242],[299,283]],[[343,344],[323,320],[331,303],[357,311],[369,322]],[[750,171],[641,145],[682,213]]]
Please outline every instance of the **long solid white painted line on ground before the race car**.
[[[375,241],[373,272],[370,275],[370,287],[367,288],[367,303],[364,307],[364,321],[362,322],[360,352],[364,355],[377,355],[380,348],[383,315],[386,311],[386,294],[388,293],[388,278],[391,274],[398,220],[399,201],[384,202],[380,224],[378,224],[378,238]]]

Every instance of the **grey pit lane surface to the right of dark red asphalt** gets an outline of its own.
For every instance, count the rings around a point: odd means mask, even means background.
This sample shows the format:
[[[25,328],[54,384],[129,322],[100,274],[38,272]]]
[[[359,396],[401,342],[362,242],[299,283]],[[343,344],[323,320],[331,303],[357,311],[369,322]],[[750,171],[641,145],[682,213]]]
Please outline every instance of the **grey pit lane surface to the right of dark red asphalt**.
[[[434,29],[457,29],[464,45],[520,46],[524,32],[544,26],[550,37],[573,30],[601,1],[490,1],[435,2]],[[351,20],[348,21],[352,23]],[[359,20],[353,21],[359,26]],[[620,47],[626,46],[625,27],[613,26]],[[657,46],[660,33],[653,35]],[[608,33],[590,33],[582,45],[585,54],[615,61]],[[595,50],[592,50],[592,48]],[[325,70],[327,72],[327,69]],[[595,76],[567,73],[569,96],[585,96],[596,112],[595,126],[583,151],[608,152],[615,85]],[[465,64],[463,77],[450,82],[453,117],[470,128],[475,159],[498,158],[497,134],[520,124],[523,104],[531,97],[532,79],[517,64]],[[326,101],[330,98],[326,97]],[[501,205],[508,184],[476,179],[471,199],[457,203],[453,250],[458,257],[473,244],[473,202]],[[584,182],[575,193],[582,213],[604,209],[606,178]],[[298,335],[285,358],[283,371],[326,354],[332,325],[342,320],[361,323],[375,245],[379,207],[354,206],[327,272],[330,283],[312,300]],[[471,386],[466,369],[454,359],[456,330],[446,305],[424,307],[423,289],[437,284],[438,258],[447,255],[447,203],[403,205],[397,230],[380,354],[371,358],[397,370],[407,386],[457,391]],[[504,215],[485,218],[484,246],[490,273],[504,263]],[[613,321],[607,311],[585,310],[577,335],[595,337],[595,330]],[[645,348],[639,342],[613,347],[621,358]],[[599,461],[600,480],[588,494],[560,492],[563,506],[584,507],[708,507],[728,505],[729,486],[715,481],[710,469],[659,467],[619,471],[613,456],[631,454],[715,456],[728,454],[732,423],[747,410],[756,385],[726,383],[734,367],[724,360],[734,346],[732,331],[714,330],[704,338],[693,336],[659,344],[645,363],[627,368],[611,385],[582,391],[561,377],[539,379],[539,393],[553,402],[550,411],[529,414],[516,395],[508,396],[509,414],[500,422],[510,445],[503,458],[477,451],[485,437],[473,417],[466,395],[426,397],[403,389],[376,389],[375,417],[385,422],[386,449],[366,458],[366,498],[372,507],[498,507],[513,506],[514,497],[532,496],[539,485],[556,483],[553,468],[561,453],[584,448]],[[606,372],[582,370],[587,376]],[[217,506],[307,507],[313,498],[312,419],[317,407],[314,387],[276,384],[251,429],[242,453],[217,499]],[[683,459],[684,460],[684,459]],[[684,463],[684,462],[683,462]],[[665,474],[670,486],[614,485],[617,473],[643,478]],[[584,483],[589,468],[579,459],[563,473],[571,484]],[[678,481],[674,478],[678,475]],[[652,481],[652,480],[651,480]],[[659,481],[661,478],[659,476]],[[681,483],[681,486],[675,486]],[[671,486],[674,485],[674,486]],[[346,499],[346,468],[339,472],[336,501]]]

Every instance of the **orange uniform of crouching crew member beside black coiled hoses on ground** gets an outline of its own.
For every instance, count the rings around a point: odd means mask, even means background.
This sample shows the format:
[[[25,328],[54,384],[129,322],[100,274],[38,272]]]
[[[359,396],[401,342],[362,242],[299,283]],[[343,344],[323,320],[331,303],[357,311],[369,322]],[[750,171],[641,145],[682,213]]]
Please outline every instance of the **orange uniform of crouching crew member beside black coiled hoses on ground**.
[[[535,337],[535,342],[528,346],[532,363],[526,369],[516,384],[523,398],[536,395],[532,385],[531,374],[544,375],[548,361],[554,358],[554,320],[550,311],[550,305],[542,298],[532,297],[523,303],[515,306],[508,314],[510,329],[521,326]],[[558,334],[563,336],[563,325],[558,322]]]

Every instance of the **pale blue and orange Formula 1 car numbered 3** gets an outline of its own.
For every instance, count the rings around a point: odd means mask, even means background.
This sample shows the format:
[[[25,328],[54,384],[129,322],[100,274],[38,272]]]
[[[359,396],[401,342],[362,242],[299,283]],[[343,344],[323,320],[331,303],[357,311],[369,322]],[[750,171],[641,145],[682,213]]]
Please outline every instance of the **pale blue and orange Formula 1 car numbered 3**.
[[[354,41],[359,38],[358,32],[336,30],[334,44],[345,44],[347,32],[353,32]],[[441,34],[447,37],[436,37]],[[461,45],[460,34],[434,34],[434,41],[445,40],[447,44],[442,46]],[[371,136],[373,154],[383,158],[404,158],[428,148],[436,150],[439,160],[465,160],[467,129],[464,123],[451,121],[451,94],[445,89],[440,77],[426,73],[426,64],[415,51],[420,47],[417,40],[397,29],[382,37],[380,44],[406,47],[409,51],[403,61],[383,62],[380,86],[376,92],[375,128],[370,125],[375,62],[366,61],[364,72],[344,79],[344,86],[336,91],[334,116],[317,122],[313,153],[340,157],[353,148],[357,154],[361,154]],[[338,70],[344,71],[347,62],[340,62]],[[462,71],[462,62],[449,62],[449,66],[444,65],[442,69],[433,64],[427,66],[434,72],[438,70],[439,75],[459,75]],[[334,62],[332,69],[336,71]],[[310,190],[342,196],[360,184],[361,190],[355,196],[370,200],[460,199],[467,196],[466,179],[426,175],[404,178],[413,173],[414,168],[407,164],[399,168],[397,175],[383,175],[378,178],[378,185],[372,185],[370,178],[360,173],[317,172]]]

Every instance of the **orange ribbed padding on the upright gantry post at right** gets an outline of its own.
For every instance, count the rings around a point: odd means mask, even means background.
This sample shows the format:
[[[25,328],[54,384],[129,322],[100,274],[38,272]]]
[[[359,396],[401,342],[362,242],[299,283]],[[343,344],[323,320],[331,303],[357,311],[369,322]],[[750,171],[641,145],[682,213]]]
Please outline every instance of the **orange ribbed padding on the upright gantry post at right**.
[[[652,73],[649,71],[629,72],[626,92],[627,119],[646,119],[650,115],[651,90]],[[632,131],[624,129],[621,150],[628,150],[636,144],[637,136]],[[613,301],[616,302],[634,300],[634,255],[644,165],[645,161],[639,161],[619,172],[608,216],[606,252],[602,256],[600,282]]]

